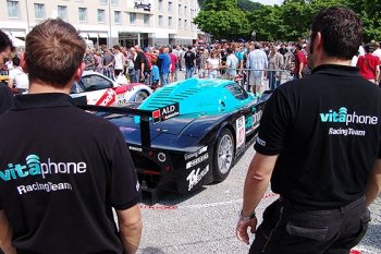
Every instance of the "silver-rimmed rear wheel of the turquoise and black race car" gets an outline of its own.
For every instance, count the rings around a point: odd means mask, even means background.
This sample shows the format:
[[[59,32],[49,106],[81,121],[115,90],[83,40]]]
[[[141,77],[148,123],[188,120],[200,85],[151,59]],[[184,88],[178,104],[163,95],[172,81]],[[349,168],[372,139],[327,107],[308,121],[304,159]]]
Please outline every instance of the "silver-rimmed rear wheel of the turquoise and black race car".
[[[229,129],[223,129],[214,147],[213,173],[217,182],[229,176],[234,161],[234,138]]]

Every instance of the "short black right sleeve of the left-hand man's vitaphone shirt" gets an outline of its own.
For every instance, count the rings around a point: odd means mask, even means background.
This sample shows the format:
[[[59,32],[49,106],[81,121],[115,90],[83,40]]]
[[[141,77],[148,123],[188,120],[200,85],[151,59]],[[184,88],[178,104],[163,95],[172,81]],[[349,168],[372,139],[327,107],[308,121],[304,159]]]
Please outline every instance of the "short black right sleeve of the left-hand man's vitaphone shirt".
[[[115,209],[131,208],[140,201],[135,167],[120,132],[111,154],[110,201]]]

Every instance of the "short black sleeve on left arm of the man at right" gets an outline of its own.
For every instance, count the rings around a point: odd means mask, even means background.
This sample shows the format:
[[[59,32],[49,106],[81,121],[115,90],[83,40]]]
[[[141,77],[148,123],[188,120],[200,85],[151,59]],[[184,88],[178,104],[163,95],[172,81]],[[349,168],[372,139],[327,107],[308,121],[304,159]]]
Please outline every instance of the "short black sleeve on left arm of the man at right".
[[[283,146],[292,116],[285,96],[276,89],[265,106],[254,148],[262,155],[278,155]]]

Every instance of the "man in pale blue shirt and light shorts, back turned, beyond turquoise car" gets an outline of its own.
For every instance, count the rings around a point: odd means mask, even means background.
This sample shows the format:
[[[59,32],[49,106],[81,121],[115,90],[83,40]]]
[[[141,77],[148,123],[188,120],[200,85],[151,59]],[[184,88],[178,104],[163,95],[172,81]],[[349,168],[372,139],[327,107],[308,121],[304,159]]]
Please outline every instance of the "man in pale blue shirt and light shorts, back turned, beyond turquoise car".
[[[253,94],[259,96],[263,87],[263,78],[269,62],[266,52],[261,50],[259,43],[254,43],[251,47],[254,47],[254,50],[250,51],[246,61],[246,68],[250,69],[248,83],[253,88]]]

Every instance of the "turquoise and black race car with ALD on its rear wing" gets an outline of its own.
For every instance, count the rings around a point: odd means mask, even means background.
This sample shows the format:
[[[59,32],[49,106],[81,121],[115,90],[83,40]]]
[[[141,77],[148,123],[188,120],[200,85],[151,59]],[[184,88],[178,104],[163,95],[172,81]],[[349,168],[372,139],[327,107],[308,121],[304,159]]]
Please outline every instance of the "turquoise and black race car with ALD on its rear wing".
[[[269,96],[255,97],[234,81],[189,78],[131,113],[102,117],[123,133],[143,191],[187,193],[229,176],[253,144]]]

